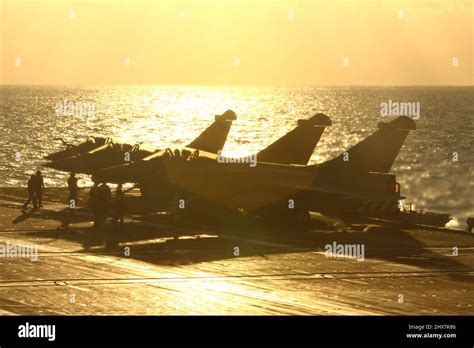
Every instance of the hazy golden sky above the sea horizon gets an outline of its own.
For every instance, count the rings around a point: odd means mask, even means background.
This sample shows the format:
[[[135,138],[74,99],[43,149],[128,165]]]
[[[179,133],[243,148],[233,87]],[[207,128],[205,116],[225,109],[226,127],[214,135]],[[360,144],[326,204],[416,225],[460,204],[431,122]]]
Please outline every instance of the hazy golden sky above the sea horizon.
[[[472,0],[0,4],[3,84],[473,81]]]

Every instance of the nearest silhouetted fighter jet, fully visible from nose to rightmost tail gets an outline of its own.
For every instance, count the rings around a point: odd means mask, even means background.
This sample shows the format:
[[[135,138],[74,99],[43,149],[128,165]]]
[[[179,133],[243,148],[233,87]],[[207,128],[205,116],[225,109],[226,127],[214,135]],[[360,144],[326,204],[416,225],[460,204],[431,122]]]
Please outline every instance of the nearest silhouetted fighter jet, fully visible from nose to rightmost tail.
[[[397,209],[395,175],[388,174],[415,122],[405,116],[388,123],[328,162],[287,165],[258,161],[256,166],[225,160],[205,151],[166,149],[135,163],[97,173],[120,181],[147,173],[155,182],[174,186],[183,196],[197,196],[213,206],[296,220],[309,211],[330,216],[379,216]],[[164,184],[163,184],[164,185]]]

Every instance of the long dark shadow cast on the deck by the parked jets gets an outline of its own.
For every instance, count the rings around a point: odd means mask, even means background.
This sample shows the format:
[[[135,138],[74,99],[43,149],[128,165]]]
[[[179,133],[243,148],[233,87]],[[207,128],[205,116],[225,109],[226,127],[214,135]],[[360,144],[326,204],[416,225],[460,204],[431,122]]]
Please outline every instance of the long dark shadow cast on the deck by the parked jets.
[[[66,211],[67,209],[60,212],[37,213],[35,217],[64,222],[64,219],[70,219],[69,216],[65,217],[68,215]],[[86,221],[90,221],[90,218],[79,215],[73,218],[74,223]],[[324,253],[325,246],[333,242],[363,244],[366,259],[386,260],[420,267],[427,271],[442,270],[453,280],[474,281],[472,276],[451,273],[473,271],[472,267],[456,261],[455,257],[433,252],[406,230],[385,226],[366,231],[338,232],[331,224],[319,220],[313,220],[312,225],[313,228],[298,231],[291,229],[291,226],[269,227],[255,220],[242,222],[231,219],[227,221],[226,227],[206,231],[191,226],[146,227],[134,223],[125,223],[121,229],[113,230],[112,225],[108,223],[101,231],[84,227],[68,229],[66,226],[29,235],[71,240],[80,243],[84,247],[84,253],[122,255],[124,258],[168,266],[236,258],[234,255],[236,246],[239,247],[238,257],[242,258],[311,251]],[[211,237],[198,237],[197,233]],[[175,235],[179,235],[180,238],[173,239]],[[137,242],[139,243],[136,244]],[[114,246],[111,247],[109,243]],[[129,256],[124,254],[125,246],[130,246]],[[348,262],[357,261],[348,260]]]

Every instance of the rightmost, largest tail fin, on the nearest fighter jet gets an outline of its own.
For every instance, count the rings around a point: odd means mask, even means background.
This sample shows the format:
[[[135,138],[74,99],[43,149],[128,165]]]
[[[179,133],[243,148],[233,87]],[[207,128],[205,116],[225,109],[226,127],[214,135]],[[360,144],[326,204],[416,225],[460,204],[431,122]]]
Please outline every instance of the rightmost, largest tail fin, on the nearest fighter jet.
[[[334,171],[388,173],[409,131],[415,129],[415,121],[407,116],[381,122],[375,133],[320,167]]]

